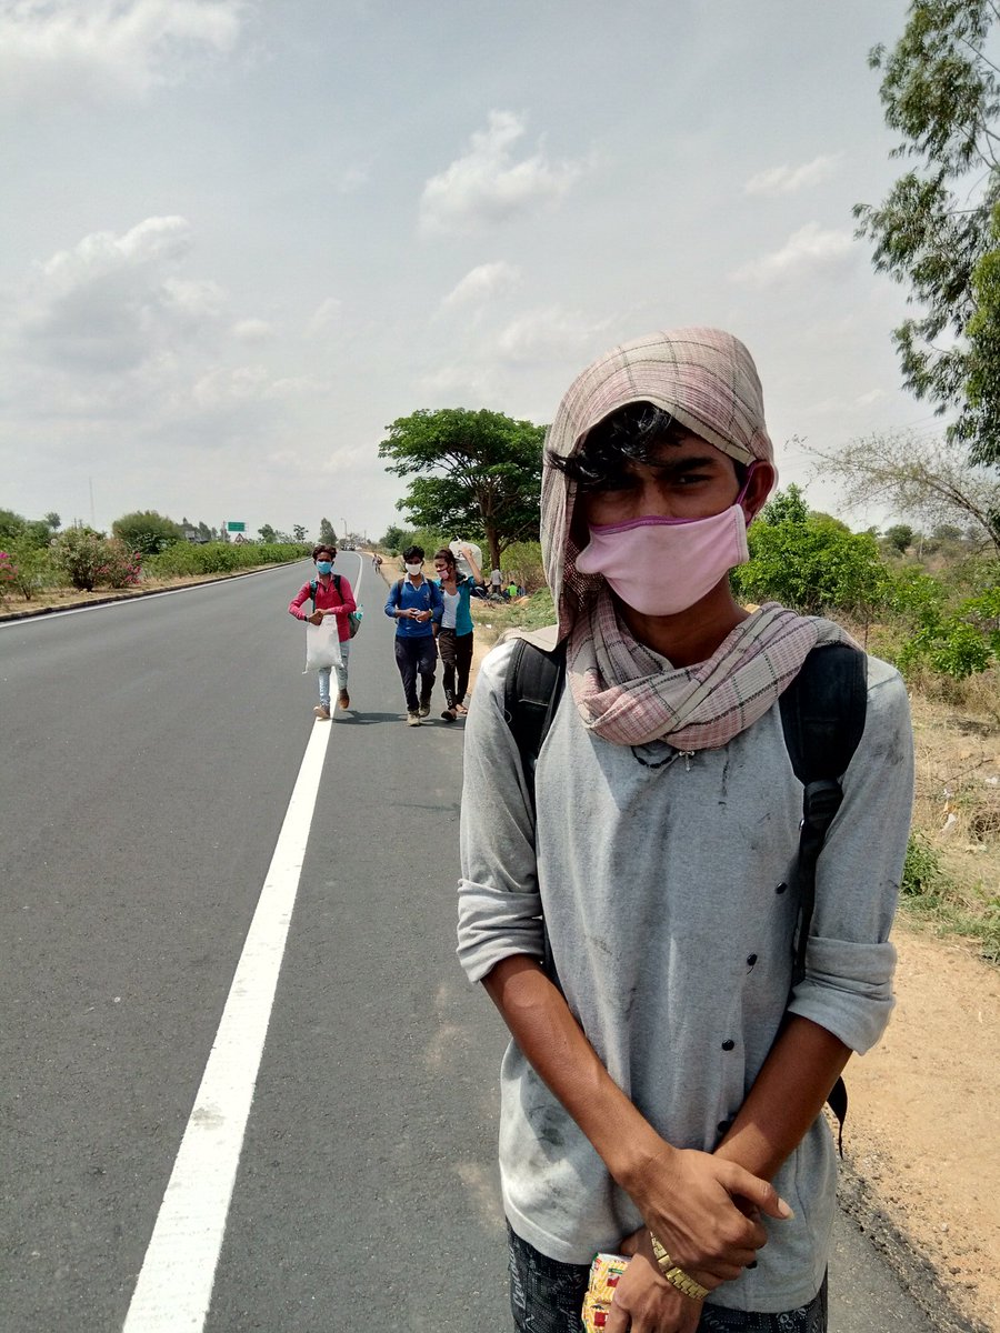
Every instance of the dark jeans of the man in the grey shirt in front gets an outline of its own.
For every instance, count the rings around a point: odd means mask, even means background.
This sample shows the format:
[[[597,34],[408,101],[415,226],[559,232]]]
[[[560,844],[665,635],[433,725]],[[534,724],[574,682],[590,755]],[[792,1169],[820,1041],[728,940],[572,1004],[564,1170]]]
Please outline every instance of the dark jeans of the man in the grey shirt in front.
[[[589,1264],[560,1264],[540,1254],[509,1225],[511,1313],[517,1333],[580,1333]],[[704,1305],[697,1333],[827,1333],[827,1280],[808,1305],[781,1314]]]

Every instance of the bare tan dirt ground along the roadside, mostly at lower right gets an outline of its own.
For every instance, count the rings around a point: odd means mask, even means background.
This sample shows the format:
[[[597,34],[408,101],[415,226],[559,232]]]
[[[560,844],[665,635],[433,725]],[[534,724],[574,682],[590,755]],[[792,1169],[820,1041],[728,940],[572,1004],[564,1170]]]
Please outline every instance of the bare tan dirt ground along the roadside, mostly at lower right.
[[[847,1070],[841,1198],[941,1333],[1000,1333],[1000,969],[905,916],[893,938],[892,1022]]]

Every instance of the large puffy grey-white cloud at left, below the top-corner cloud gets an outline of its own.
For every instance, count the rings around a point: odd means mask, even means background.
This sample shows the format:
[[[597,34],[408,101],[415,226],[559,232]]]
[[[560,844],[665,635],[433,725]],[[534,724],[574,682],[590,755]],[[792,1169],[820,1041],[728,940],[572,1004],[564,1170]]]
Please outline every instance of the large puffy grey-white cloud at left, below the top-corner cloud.
[[[192,247],[183,217],[148,217],[124,236],[93,232],[37,267],[16,321],[25,355],[67,372],[132,371],[183,352],[213,325],[225,293],[176,272]]]

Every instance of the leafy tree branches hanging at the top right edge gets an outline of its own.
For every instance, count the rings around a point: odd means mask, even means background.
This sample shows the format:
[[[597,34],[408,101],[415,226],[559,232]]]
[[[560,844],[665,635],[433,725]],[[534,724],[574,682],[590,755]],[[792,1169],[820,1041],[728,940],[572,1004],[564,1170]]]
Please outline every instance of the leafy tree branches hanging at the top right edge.
[[[855,216],[876,271],[921,307],[892,335],[904,384],[957,411],[948,439],[971,463],[1000,465],[1000,80],[984,53],[997,19],[996,0],[911,0],[893,51],[869,53],[896,156],[919,167]]]

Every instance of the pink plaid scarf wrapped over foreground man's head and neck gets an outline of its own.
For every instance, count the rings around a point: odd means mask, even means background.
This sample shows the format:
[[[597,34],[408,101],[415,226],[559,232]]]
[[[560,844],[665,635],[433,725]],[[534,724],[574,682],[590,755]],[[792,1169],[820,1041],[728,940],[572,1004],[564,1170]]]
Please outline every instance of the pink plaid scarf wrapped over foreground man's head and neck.
[[[721,329],[651,333],[613,348],[577,376],[559,405],[547,455],[571,456],[587,432],[629,403],[652,403],[739,463],[773,465],[753,360]],[[576,569],[576,489],[545,463],[541,553],[556,604],[557,637],[584,726],[619,745],[663,740],[713,749],[761,717],[817,643],[847,640],[831,621],[768,603],[741,621],[708,661],[672,666],[637,643],[619,620],[600,575]],[[544,647],[541,636],[535,637]],[[849,640],[847,640],[849,641]]]

